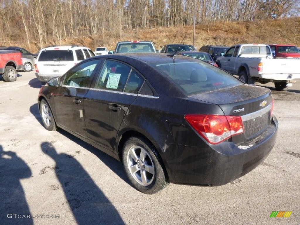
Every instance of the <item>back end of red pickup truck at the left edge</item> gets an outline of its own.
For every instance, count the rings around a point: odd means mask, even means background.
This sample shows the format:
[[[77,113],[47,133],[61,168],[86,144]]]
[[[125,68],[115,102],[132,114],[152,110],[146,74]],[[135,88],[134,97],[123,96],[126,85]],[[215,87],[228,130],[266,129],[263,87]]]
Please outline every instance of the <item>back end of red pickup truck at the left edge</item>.
[[[22,70],[22,67],[23,62],[21,52],[0,50],[0,75],[2,74],[4,81],[16,81],[16,70]]]

